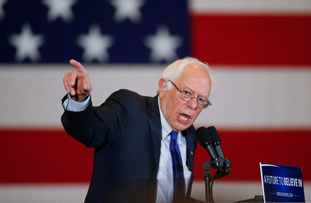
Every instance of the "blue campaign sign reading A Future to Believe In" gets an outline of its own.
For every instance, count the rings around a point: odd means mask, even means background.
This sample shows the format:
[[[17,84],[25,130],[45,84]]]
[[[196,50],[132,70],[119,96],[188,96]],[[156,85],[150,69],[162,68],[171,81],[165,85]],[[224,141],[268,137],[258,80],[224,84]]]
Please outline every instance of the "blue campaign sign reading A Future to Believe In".
[[[305,202],[302,168],[260,163],[264,202]]]

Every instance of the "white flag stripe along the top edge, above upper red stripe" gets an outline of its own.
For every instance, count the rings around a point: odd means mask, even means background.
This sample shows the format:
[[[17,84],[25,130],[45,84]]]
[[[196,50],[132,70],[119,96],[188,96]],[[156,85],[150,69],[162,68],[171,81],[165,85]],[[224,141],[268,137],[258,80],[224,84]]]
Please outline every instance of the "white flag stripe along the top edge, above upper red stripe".
[[[189,0],[191,13],[311,14],[309,0]]]

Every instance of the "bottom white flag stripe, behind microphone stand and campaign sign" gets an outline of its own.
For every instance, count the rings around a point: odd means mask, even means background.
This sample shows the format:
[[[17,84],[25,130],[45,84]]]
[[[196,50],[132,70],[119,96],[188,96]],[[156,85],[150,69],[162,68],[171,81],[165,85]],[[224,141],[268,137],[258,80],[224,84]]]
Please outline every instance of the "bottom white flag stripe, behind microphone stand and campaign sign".
[[[203,174],[202,174],[203,177]],[[234,202],[262,195],[261,182],[215,181],[215,202]],[[0,184],[1,203],[77,203],[84,202],[88,184]],[[311,202],[311,182],[304,182],[306,202]],[[191,197],[205,201],[204,181],[193,182]]]

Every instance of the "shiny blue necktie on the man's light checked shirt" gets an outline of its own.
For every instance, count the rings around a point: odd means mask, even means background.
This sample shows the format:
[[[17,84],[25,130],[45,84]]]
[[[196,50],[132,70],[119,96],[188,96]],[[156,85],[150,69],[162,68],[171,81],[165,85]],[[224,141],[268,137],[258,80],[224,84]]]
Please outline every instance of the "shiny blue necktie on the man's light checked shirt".
[[[171,140],[169,142],[169,151],[171,152],[172,165],[173,165],[173,179],[174,179],[174,193],[173,202],[183,201],[183,188],[184,188],[184,178],[183,178],[183,161],[181,159],[178,143],[177,143],[178,132],[171,132]]]

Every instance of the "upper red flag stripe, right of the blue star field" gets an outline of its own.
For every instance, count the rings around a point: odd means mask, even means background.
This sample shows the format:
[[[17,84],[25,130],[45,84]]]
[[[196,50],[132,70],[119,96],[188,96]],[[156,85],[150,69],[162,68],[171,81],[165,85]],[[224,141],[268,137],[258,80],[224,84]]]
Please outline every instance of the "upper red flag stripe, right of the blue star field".
[[[311,65],[311,16],[192,15],[193,56],[222,65]]]

